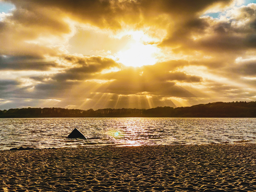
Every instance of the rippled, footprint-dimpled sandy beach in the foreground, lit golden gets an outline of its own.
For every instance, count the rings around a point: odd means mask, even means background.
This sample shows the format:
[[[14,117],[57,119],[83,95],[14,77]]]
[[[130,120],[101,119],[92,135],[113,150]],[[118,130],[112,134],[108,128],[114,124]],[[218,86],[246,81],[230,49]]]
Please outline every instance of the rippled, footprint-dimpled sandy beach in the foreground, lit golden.
[[[256,191],[256,144],[0,151],[0,191]]]

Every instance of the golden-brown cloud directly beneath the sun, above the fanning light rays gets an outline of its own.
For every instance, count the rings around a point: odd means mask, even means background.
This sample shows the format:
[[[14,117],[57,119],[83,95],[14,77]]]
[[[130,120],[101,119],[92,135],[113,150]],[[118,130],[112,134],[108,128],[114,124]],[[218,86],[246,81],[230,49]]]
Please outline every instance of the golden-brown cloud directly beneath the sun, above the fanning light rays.
[[[115,81],[111,82],[107,87],[106,91],[109,93],[129,95],[148,92],[154,95],[180,95],[180,97],[195,97],[195,95],[177,86],[174,80],[186,82],[200,82],[201,80],[199,76],[189,75],[184,72],[161,70],[158,65],[144,66],[137,70],[127,67],[115,74],[105,74],[103,76],[103,78],[110,77]]]

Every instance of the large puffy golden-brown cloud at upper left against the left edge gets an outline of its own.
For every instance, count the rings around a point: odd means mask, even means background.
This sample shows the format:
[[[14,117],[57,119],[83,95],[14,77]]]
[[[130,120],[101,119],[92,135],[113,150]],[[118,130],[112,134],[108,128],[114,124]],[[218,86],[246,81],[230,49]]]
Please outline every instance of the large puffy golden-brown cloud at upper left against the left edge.
[[[65,16],[23,3],[0,21],[0,55],[42,58],[65,52],[65,42],[75,33]]]

